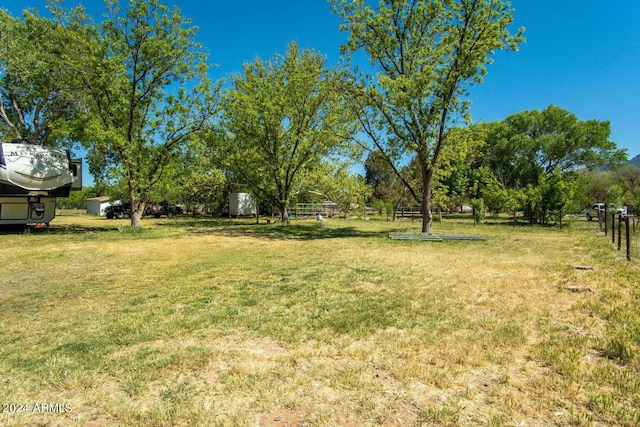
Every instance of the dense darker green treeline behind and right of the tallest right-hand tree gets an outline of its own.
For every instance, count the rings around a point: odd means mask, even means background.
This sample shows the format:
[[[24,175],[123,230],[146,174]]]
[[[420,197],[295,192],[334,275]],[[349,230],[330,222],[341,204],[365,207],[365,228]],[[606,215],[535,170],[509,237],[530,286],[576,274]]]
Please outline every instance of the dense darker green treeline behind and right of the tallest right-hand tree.
[[[455,150],[437,174],[434,200],[450,211],[470,206],[479,218],[509,213],[538,224],[561,221],[594,202],[638,212],[640,168],[609,135],[608,121],[580,121],[553,105],[455,129]],[[365,167],[374,198],[389,212],[415,203],[380,153],[371,153]],[[419,180],[411,160],[400,172],[405,181]]]

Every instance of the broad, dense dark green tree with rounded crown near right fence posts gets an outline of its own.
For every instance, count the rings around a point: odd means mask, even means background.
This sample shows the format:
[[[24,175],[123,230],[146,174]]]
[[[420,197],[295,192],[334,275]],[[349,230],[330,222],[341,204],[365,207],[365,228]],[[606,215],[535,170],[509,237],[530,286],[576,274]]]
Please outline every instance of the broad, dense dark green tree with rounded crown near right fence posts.
[[[524,206],[518,208],[532,222],[544,223],[549,213],[582,204],[578,181],[586,175],[579,171],[616,166],[626,159],[625,151],[609,140],[608,121],[581,121],[553,105],[476,129],[483,143],[470,169],[486,169],[493,177],[479,182],[479,195],[493,208],[501,201],[519,200]],[[509,194],[514,197],[505,197]]]

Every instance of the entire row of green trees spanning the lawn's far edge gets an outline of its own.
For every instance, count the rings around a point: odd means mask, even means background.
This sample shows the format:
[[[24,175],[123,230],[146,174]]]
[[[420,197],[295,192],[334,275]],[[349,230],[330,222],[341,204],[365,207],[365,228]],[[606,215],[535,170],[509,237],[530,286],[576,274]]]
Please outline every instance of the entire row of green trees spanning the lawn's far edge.
[[[283,222],[300,202],[418,206],[426,232],[435,207],[539,224],[594,201],[640,208],[609,122],[553,105],[471,122],[470,86],[524,42],[508,2],[329,3],[349,34],[341,65],[291,43],[218,82],[197,28],[159,0],[105,0],[101,22],[62,0],[50,18],[0,9],[2,139],[86,151],[95,186],[62,203],[108,194],[131,203],[132,226],[152,201],[220,211],[230,191]],[[366,176],[351,172],[365,156]]]

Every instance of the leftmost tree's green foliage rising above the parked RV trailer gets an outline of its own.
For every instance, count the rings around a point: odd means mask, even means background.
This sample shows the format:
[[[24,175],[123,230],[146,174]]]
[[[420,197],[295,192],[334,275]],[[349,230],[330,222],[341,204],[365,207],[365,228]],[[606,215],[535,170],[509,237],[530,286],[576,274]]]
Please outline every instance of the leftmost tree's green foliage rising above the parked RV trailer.
[[[70,148],[57,132],[80,104],[60,58],[68,29],[24,11],[24,19],[0,9],[0,135]]]

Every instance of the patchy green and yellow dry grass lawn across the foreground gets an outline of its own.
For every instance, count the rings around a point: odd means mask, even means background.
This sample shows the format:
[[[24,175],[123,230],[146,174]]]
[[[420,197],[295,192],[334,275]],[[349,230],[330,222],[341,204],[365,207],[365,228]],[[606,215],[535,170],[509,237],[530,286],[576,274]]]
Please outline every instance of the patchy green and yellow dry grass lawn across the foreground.
[[[595,224],[127,224],[0,234],[0,425],[640,424],[640,264]]]

